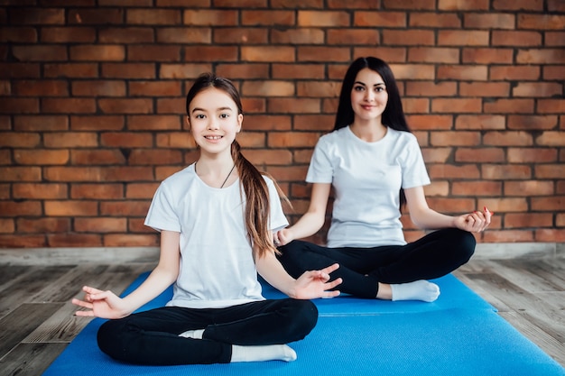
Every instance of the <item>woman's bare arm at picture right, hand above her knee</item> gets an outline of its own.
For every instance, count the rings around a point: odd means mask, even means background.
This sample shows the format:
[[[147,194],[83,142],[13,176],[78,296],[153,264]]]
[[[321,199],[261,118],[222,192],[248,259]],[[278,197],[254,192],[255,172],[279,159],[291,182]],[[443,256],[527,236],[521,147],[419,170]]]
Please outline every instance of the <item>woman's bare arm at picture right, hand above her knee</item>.
[[[493,215],[486,207],[482,212],[475,211],[462,216],[440,214],[428,206],[422,187],[404,189],[404,195],[412,222],[422,229],[457,227],[471,233],[478,233],[490,225],[490,218]]]

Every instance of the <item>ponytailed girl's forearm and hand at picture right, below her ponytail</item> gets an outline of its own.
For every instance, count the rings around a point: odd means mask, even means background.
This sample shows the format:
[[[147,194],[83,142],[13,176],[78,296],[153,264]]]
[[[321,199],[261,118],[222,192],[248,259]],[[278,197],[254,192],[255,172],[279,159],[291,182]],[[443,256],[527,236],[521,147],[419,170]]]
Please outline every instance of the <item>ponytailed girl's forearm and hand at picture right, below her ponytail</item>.
[[[290,298],[333,298],[339,295],[339,291],[329,291],[341,283],[341,279],[329,282],[329,273],[337,270],[338,264],[333,264],[321,271],[306,271],[298,280],[294,280],[282,268],[274,252],[265,252],[263,257],[255,260],[255,266],[264,280]]]

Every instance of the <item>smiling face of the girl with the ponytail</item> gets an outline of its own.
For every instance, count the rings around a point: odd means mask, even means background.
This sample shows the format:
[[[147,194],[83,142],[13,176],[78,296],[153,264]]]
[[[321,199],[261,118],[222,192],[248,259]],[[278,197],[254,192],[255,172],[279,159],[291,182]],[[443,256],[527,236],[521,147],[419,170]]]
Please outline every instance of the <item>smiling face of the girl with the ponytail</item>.
[[[200,150],[218,154],[230,152],[243,118],[231,96],[216,87],[208,87],[190,102],[187,121]]]

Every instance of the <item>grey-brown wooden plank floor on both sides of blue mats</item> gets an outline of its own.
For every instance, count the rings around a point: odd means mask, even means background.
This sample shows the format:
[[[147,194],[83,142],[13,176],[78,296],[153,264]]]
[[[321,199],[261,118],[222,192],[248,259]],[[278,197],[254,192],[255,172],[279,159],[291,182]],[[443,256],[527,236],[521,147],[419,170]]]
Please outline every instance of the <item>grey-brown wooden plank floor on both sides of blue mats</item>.
[[[91,284],[123,291],[150,262],[0,263],[0,375],[41,375],[88,324],[69,301]],[[565,366],[565,259],[472,260],[455,275]]]

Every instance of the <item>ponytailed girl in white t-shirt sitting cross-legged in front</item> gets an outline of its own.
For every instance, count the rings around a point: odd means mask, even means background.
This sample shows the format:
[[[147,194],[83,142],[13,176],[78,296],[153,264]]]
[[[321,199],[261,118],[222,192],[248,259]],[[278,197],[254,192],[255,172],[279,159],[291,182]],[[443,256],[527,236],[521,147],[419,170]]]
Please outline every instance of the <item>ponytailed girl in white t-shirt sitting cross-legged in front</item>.
[[[161,232],[161,256],[125,298],[84,287],[87,310],[110,318],[100,349],[123,362],[189,364],[296,359],[286,345],[308,335],[318,311],[309,298],[338,295],[338,265],[292,279],[275,257],[273,230],[288,225],[272,179],[244,158],[236,142],[243,112],[226,78],[200,76],[187,95],[187,121],[199,160],[165,179],[145,220]],[[291,298],[265,300],[257,272]],[[166,307],[135,313],[167,289]]]

